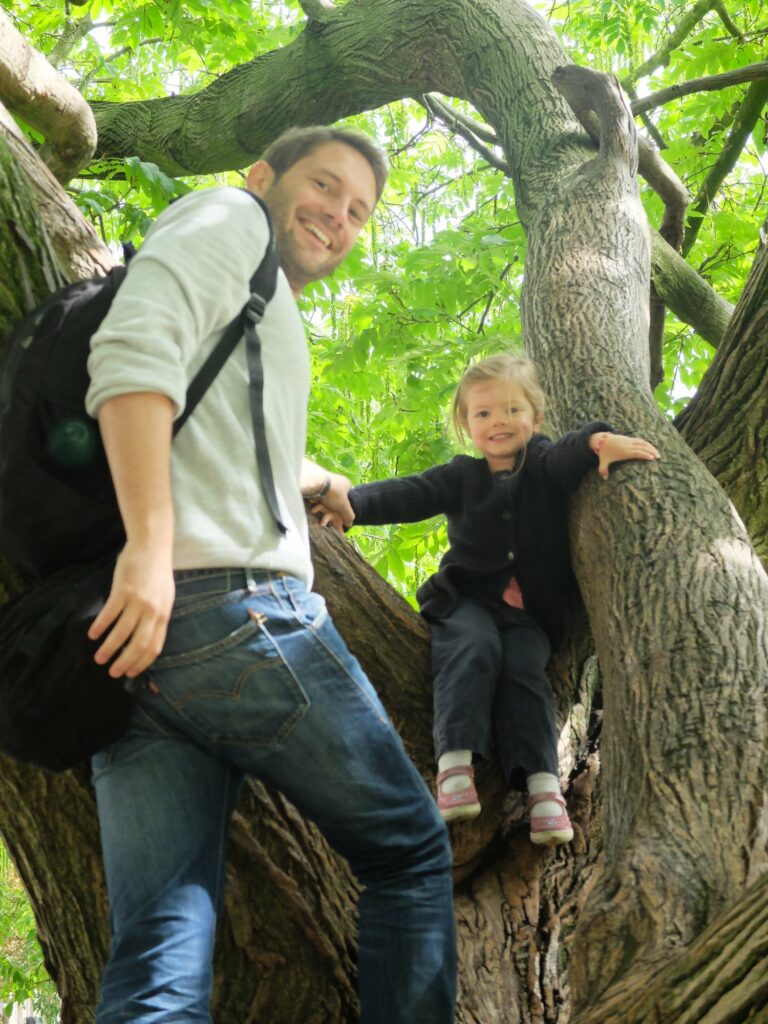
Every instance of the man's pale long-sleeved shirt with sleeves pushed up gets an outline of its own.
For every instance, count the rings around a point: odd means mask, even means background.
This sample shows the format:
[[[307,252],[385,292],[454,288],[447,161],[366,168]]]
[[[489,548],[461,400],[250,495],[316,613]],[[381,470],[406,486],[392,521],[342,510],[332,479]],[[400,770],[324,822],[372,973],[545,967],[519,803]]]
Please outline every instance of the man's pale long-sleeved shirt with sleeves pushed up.
[[[153,391],[167,395],[180,415],[195,373],[248,299],[266,242],[264,214],[241,189],[197,191],[170,206],[91,339],[87,412],[96,416],[110,398]],[[173,441],[173,564],[282,570],[309,587],[299,489],[309,358],[282,270],[258,333],[267,444],[288,532],[279,534],[259,485],[242,342]]]

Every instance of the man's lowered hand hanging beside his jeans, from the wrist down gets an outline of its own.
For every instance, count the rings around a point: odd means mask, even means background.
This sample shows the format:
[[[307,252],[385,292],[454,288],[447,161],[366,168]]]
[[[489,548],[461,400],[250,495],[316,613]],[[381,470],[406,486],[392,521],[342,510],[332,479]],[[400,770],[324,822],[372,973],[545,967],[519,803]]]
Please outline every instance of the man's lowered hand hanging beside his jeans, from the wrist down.
[[[133,679],[147,669],[165,643],[175,586],[170,557],[128,542],[115,566],[112,590],[88,630],[91,640],[106,638],[95,654],[114,679]]]

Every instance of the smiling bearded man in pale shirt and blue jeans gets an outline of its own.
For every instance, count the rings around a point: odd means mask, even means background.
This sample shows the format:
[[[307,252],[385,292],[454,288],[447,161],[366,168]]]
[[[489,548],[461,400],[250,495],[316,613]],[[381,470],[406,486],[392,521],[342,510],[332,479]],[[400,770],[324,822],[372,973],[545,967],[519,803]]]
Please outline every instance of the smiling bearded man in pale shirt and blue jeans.
[[[248,174],[281,252],[259,335],[285,534],[259,484],[242,345],[171,449],[188,381],[266,247],[252,197],[210,189],[170,207],[93,338],[88,410],[127,541],[91,636],[96,660],[139,682],[128,734],[93,760],[114,933],[98,1024],[210,1021],[224,837],[247,774],[315,821],[365,887],[364,1024],[454,1020],[444,827],[308,590],[302,484],[352,514],[349,482],[303,461],[308,356],[294,299],[344,259],[385,176],[369,139],[324,128],[287,133]]]

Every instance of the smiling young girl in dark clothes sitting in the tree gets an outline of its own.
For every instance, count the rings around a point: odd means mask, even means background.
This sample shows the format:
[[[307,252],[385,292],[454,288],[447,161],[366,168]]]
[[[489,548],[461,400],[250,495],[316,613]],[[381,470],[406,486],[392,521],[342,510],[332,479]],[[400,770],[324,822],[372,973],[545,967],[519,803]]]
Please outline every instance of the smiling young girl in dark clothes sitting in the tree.
[[[482,359],[462,377],[453,409],[480,458],[362,484],[349,500],[355,525],[447,517],[449,550],[417,593],[432,636],[440,813],[480,813],[472,765],[489,756],[494,728],[510,786],[527,788],[531,842],[555,844],[573,837],[545,672],[561,595],[574,585],[566,496],[591,469],[607,479],[611,463],[658,453],[602,422],[553,443],[537,432],[543,415],[532,362]]]

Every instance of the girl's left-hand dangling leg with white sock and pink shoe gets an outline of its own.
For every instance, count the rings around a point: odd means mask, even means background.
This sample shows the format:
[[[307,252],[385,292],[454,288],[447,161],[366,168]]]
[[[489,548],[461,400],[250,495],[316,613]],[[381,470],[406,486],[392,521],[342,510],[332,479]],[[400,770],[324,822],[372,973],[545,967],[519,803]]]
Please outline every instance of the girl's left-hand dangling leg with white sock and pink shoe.
[[[494,618],[470,598],[447,617],[430,622],[434,675],[437,804],[446,819],[474,817],[472,754],[487,757],[490,711],[501,669],[501,640]]]

